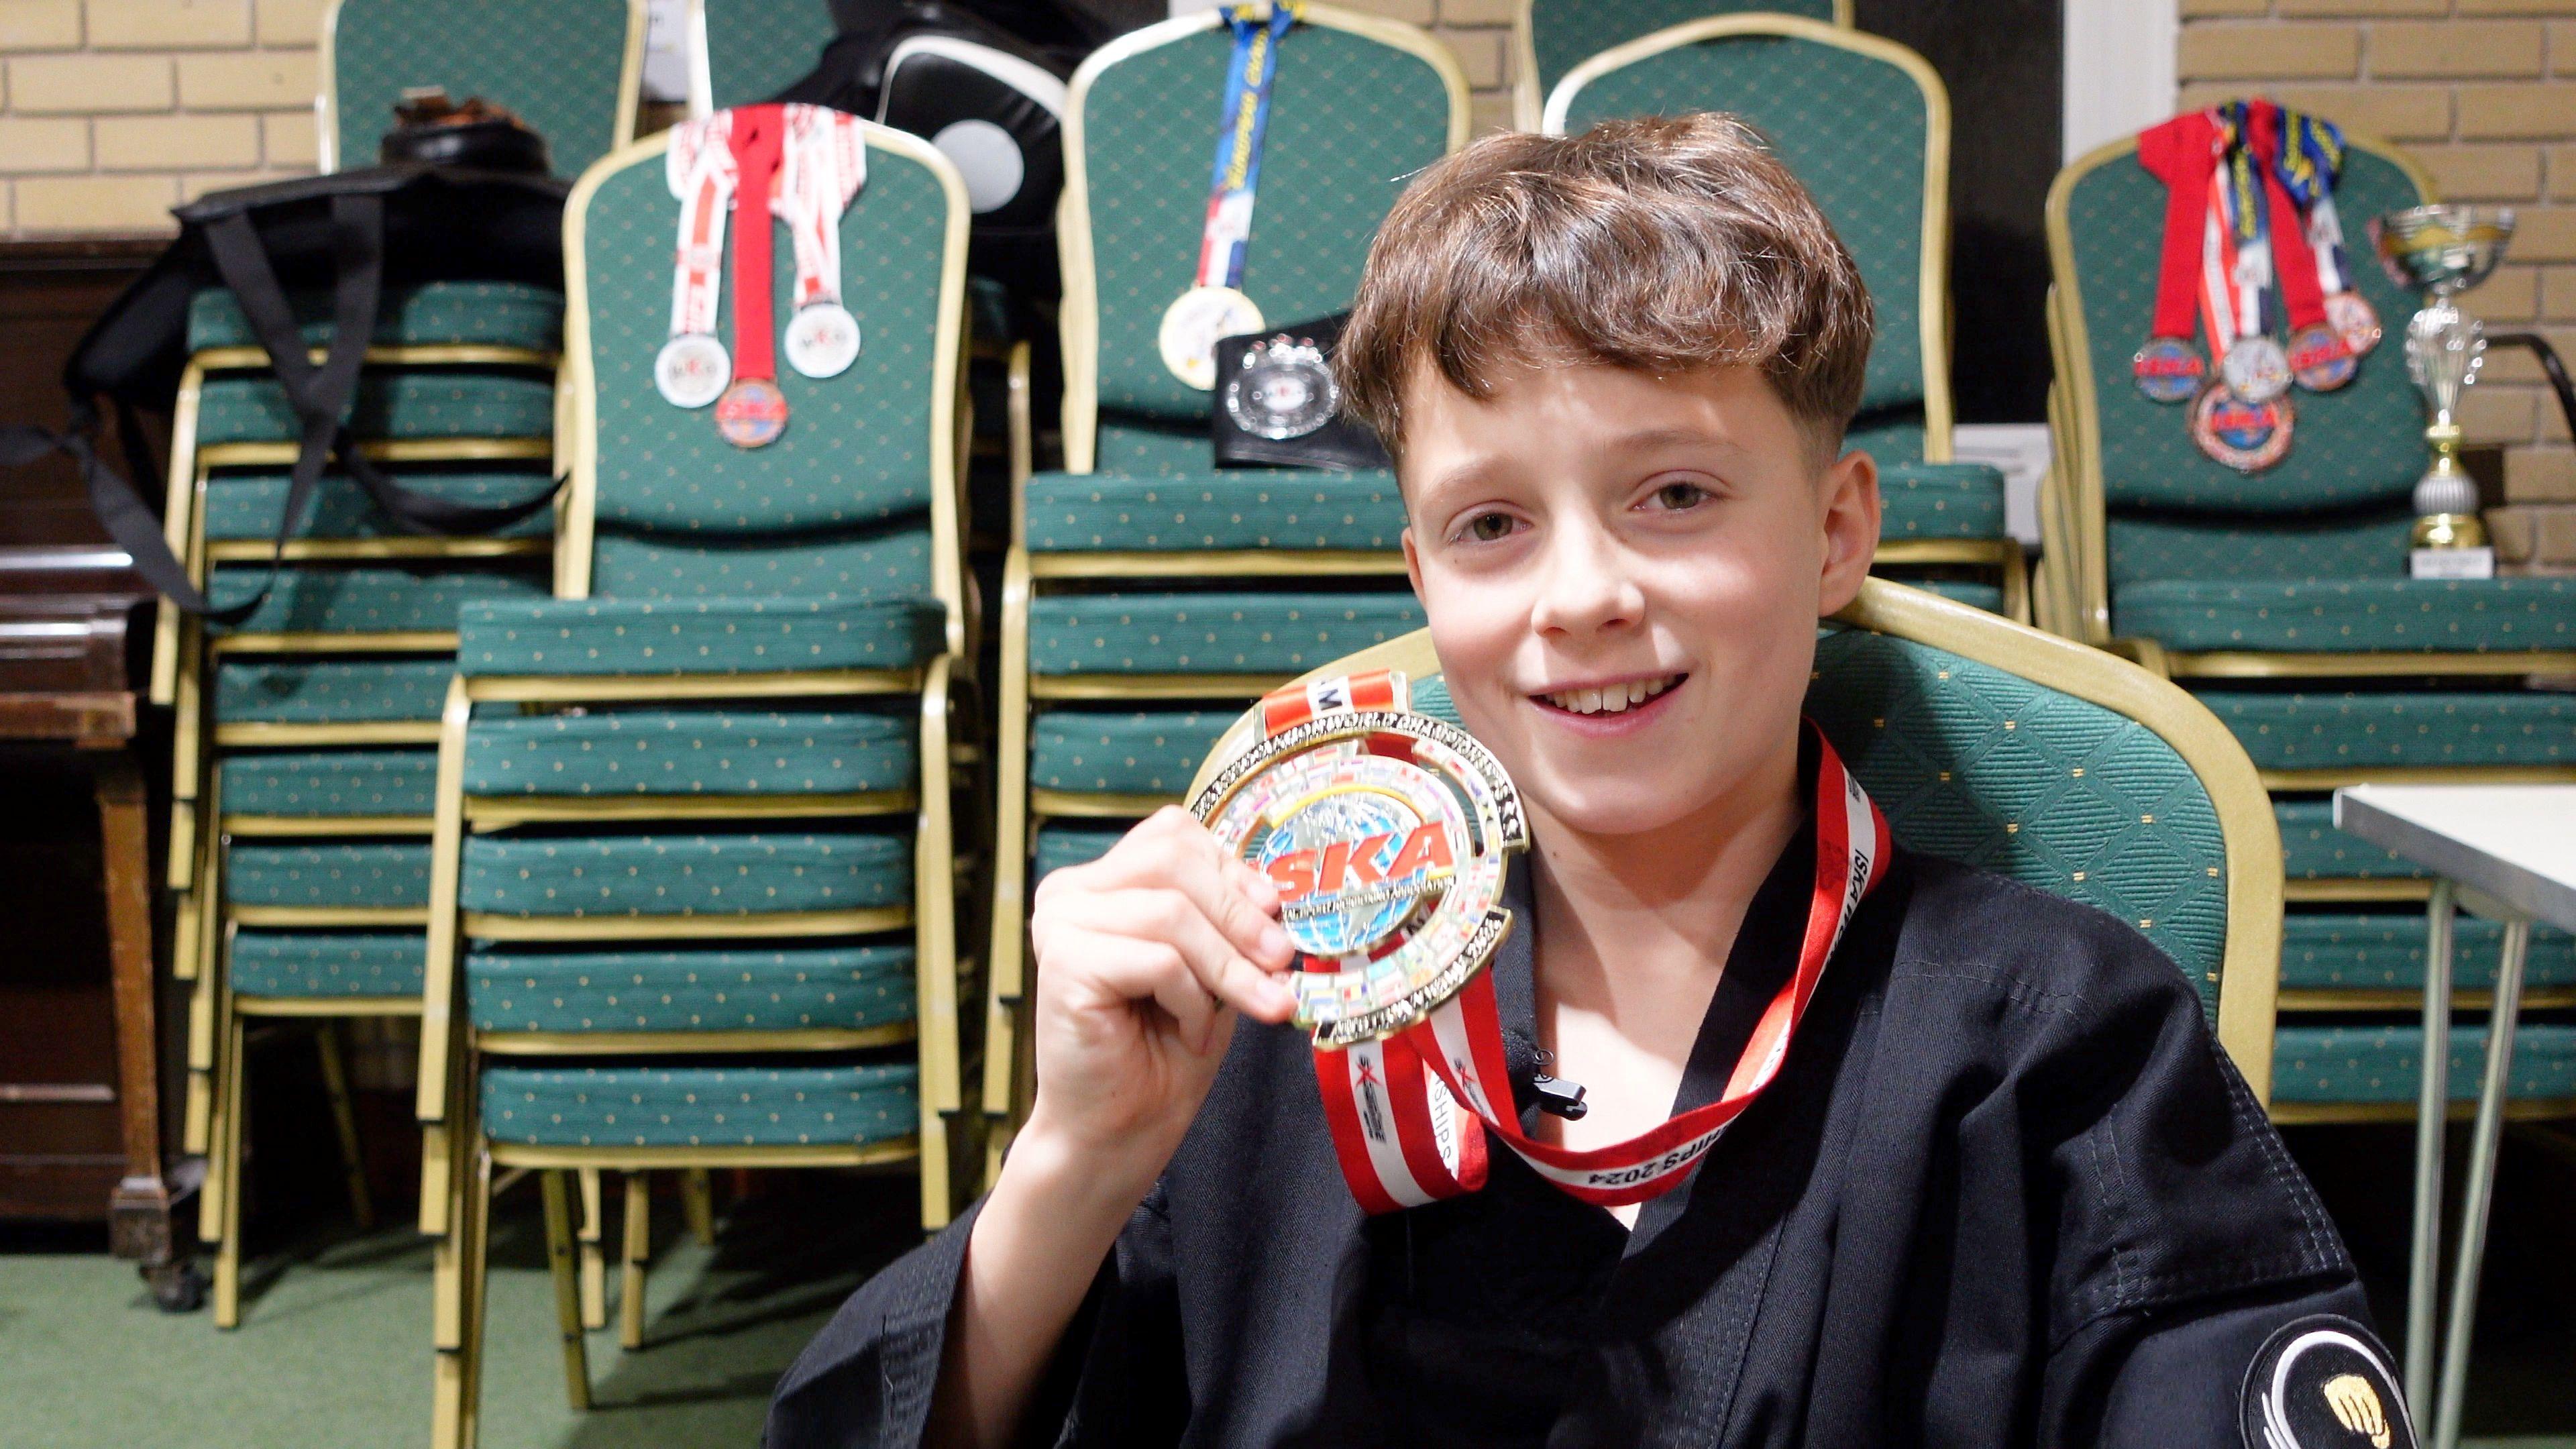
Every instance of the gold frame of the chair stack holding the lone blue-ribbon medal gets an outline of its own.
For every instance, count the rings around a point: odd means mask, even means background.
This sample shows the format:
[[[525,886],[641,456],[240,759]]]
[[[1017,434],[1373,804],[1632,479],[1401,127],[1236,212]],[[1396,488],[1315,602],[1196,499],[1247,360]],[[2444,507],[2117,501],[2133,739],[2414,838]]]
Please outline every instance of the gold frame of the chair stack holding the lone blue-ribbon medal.
[[[1468,83],[1432,34],[1401,21],[1381,21],[1309,5],[1303,23],[1347,31],[1406,52],[1440,75],[1448,90],[1448,150],[1468,139]],[[1216,10],[1180,15],[1126,34],[1082,62],[1064,106],[1064,199],[1056,204],[1056,250],[1064,266],[1064,304],[1059,335],[1064,343],[1064,467],[1095,472],[1100,443],[1100,278],[1092,260],[1090,165],[1084,157],[1084,108],[1097,77],[1139,54],[1200,36],[1224,26]],[[1020,446],[1018,438],[1012,443]],[[984,1114],[987,1181],[1002,1165],[1028,1083],[1023,1060],[1020,1008],[1028,993],[1028,851],[1038,820],[1092,817],[1118,820],[1151,815],[1167,797],[1033,792],[1028,784],[1030,706],[1036,701],[1247,701],[1278,683],[1273,676],[1033,676],[1028,665],[1030,601],[1061,580],[1180,580],[1180,578],[1394,578],[1404,572],[1401,552],[1376,549],[1175,549],[1175,552],[1038,552],[1028,549],[1028,474],[1012,459],[1010,554],[1002,562],[1002,655],[999,655],[999,763],[994,789],[992,859],[992,959],[987,964],[984,1011]]]

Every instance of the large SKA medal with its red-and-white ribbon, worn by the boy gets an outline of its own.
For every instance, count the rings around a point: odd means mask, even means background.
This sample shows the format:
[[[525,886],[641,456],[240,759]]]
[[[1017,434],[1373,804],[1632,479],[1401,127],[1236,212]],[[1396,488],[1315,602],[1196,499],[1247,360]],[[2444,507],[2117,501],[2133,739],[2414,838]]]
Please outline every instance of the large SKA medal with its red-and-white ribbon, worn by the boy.
[[[1368,1212],[1476,1191],[1486,1134],[1582,1201],[1623,1207],[1680,1186],[1780,1075],[1891,851],[1886,817],[1814,730],[1806,938],[1726,1091],[1628,1142],[1553,1147],[1520,1132],[1484,972],[1510,928],[1502,859],[1525,841],[1502,766],[1463,730],[1412,714],[1404,676],[1391,670],[1275,691],[1262,701],[1262,735],[1190,810],[1283,884],[1283,920],[1306,967],[1293,977],[1296,1021],[1314,1029],[1334,1155]]]

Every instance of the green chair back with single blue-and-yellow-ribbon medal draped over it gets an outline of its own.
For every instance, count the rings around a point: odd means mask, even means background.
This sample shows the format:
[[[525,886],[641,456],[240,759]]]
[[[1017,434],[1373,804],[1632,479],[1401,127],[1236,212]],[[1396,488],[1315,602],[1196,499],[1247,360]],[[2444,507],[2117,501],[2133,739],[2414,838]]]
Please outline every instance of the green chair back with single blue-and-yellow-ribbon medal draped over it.
[[[1074,72],[1066,106],[1066,454],[1090,472],[1097,413],[1198,428],[1208,394],[1157,348],[1188,291],[1234,54],[1216,13],[1146,26]],[[1244,291],[1273,322],[1350,307],[1404,183],[1466,139],[1466,77],[1427,34],[1314,5],[1280,44]]]

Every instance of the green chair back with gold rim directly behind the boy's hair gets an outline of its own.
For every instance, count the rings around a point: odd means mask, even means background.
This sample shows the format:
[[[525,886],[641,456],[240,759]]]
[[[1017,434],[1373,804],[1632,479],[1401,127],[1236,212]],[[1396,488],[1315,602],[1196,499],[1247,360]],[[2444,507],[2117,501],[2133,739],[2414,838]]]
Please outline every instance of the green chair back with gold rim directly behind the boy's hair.
[[[1929,428],[1929,456],[1947,456],[1950,98],[1932,64],[1850,28],[1723,15],[1582,62],[1548,95],[1546,129],[1685,111],[1759,129],[1860,263],[1878,340],[1855,446],[1927,456],[1917,428]]]

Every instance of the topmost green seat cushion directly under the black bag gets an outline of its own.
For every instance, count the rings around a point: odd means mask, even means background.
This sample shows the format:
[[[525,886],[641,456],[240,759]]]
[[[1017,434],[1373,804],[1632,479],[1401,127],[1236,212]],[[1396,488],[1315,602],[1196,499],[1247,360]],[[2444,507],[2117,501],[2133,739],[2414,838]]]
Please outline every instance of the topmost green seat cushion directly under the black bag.
[[[551,438],[554,379],[523,371],[371,371],[348,407],[358,438]],[[291,443],[286,392],[265,376],[216,376],[198,389],[196,441]]]

